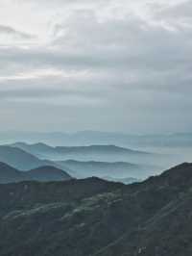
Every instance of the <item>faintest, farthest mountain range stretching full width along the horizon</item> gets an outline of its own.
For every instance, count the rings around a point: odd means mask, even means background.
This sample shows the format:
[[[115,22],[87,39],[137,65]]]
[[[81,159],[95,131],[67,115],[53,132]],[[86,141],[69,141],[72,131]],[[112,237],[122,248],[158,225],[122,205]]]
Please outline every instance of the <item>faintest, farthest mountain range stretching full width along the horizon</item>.
[[[128,135],[123,133],[84,131],[73,134],[67,133],[32,133],[32,132],[0,132],[2,143],[14,141],[38,141],[51,145],[90,145],[115,144],[125,147],[191,147],[192,133],[155,134],[155,135]]]

